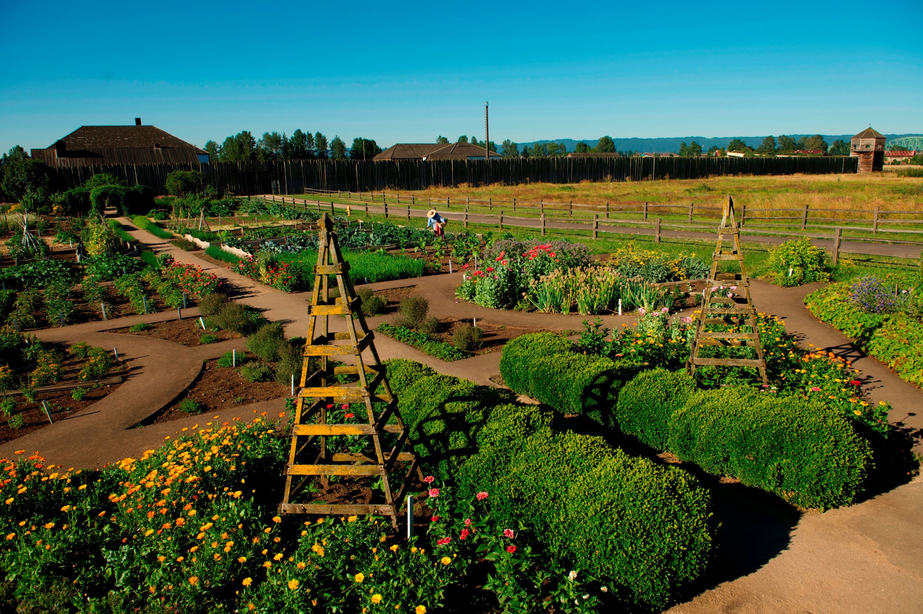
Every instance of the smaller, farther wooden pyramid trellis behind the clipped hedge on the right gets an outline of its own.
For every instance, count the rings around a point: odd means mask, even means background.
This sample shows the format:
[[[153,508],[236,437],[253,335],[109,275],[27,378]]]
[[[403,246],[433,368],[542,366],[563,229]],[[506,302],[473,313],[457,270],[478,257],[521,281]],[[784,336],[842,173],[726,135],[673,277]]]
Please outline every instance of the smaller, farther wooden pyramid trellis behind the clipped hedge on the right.
[[[724,249],[724,243],[727,241],[725,235],[730,235],[731,241],[734,242],[730,250]],[[727,260],[736,260],[740,266],[740,273],[718,273],[718,263]],[[735,289],[728,292],[730,286],[734,286]],[[729,293],[732,296],[729,297]],[[715,324],[741,328],[749,326],[749,332],[706,330],[706,326]],[[754,348],[757,358],[701,358],[699,352],[702,346]],[[721,226],[718,227],[718,244],[712,255],[712,271],[705,285],[701,315],[696,323],[695,337],[692,339],[689,372],[694,373],[697,366],[705,365],[755,367],[760,372],[762,383],[769,384],[766,378],[766,359],[760,344],[760,329],[756,323],[756,309],[750,298],[749,277],[744,267],[744,254],[740,249],[740,229],[734,212],[734,199],[731,196],[727,196]]]

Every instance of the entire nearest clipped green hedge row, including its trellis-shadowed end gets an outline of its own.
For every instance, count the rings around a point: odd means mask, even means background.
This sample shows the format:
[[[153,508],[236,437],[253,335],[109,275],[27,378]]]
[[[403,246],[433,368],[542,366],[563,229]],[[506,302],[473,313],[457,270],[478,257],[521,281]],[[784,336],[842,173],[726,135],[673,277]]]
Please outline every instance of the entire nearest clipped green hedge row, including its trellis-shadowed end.
[[[426,470],[462,496],[486,490],[491,514],[530,526],[558,564],[654,608],[704,571],[710,499],[688,472],[557,432],[552,411],[508,392],[410,360],[386,365]]]

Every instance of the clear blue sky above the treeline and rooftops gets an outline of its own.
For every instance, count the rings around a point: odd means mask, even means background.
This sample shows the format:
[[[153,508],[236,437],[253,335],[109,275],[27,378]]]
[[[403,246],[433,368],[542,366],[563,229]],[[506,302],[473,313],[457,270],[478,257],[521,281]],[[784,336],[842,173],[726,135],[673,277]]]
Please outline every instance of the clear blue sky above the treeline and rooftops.
[[[199,146],[923,131],[923,2],[0,0],[0,149],[140,116]]]

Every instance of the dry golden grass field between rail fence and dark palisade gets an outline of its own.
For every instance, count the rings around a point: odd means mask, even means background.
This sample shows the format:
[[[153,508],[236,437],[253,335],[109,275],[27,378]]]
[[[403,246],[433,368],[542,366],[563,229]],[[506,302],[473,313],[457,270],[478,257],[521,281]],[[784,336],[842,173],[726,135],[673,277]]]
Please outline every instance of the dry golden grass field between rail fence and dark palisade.
[[[394,191],[388,190],[389,193]],[[801,208],[923,211],[923,180],[898,177],[896,173],[868,175],[785,175],[759,177],[713,177],[706,180],[669,180],[655,182],[618,183],[528,183],[521,185],[490,185],[471,188],[430,188],[415,192],[401,191],[408,197],[444,199],[447,196],[464,199],[493,198],[509,201],[545,199],[545,203],[573,201],[585,205],[639,205],[644,201],[655,204],[720,206],[726,195],[733,195],[737,206],[750,208]],[[831,212],[830,217],[839,217]]]

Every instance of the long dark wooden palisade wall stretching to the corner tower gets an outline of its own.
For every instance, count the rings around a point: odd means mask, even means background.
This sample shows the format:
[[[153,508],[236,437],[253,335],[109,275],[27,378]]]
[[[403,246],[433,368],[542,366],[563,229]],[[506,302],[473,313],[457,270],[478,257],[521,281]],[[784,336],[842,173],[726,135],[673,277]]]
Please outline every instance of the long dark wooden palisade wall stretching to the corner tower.
[[[83,185],[108,172],[128,185],[142,183],[156,194],[170,171],[200,171],[219,194],[302,194],[307,189],[422,190],[503,183],[579,183],[702,179],[715,175],[788,175],[852,173],[858,158],[513,158],[463,160],[331,160],[104,164],[61,167],[55,171],[67,187]]]

